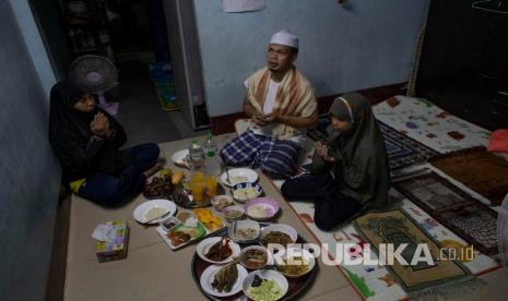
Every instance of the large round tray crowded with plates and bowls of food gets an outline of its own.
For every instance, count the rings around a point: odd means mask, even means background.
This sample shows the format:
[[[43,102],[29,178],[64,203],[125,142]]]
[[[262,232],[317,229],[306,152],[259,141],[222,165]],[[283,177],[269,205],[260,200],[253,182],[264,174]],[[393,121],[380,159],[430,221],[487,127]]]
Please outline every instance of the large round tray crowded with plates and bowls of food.
[[[248,239],[235,239],[234,233],[239,230],[241,232],[243,228],[251,229],[253,233]],[[318,265],[312,254],[297,248],[299,243],[307,241],[298,234],[295,237],[295,232],[287,225],[264,222],[258,226],[232,225],[216,231],[209,238],[213,240],[208,245],[214,243],[215,249],[221,245],[222,251],[214,250],[211,253],[223,253],[223,256],[215,258],[214,263],[203,258],[203,248],[197,250],[191,263],[196,285],[210,300],[237,300],[246,297],[250,300],[297,299],[312,284]],[[264,242],[285,244],[286,251],[280,251],[277,255],[271,254],[261,243],[263,238]],[[233,251],[233,245],[239,246],[236,257],[232,254],[237,253],[238,249]],[[213,245],[208,250],[212,248]],[[274,260],[276,256],[279,261]]]

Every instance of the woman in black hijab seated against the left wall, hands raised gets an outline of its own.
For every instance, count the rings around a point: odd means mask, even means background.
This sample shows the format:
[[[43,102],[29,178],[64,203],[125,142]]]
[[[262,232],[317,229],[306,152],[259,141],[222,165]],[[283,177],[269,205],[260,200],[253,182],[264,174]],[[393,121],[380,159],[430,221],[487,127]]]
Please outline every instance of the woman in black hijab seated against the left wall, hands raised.
[[[92,94],[70,81],[51,89],[49,139],[62,166],[62,182],[103,205],[139,193],[146,177],[162,168],[156,144],[119,150],[127,141],[122,127],[95,106]]]

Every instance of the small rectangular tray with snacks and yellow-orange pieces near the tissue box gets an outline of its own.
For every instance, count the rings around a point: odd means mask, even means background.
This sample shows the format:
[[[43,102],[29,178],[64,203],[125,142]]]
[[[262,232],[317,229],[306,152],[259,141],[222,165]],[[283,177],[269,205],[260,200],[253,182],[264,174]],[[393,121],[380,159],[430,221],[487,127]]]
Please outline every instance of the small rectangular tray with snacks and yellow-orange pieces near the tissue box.
[[[224,220],[213,210],[197,208],[192,212],[179,212],[176,217],[162,220],[155,230],[172,250],[178,250],[200,241],[225,226]]]

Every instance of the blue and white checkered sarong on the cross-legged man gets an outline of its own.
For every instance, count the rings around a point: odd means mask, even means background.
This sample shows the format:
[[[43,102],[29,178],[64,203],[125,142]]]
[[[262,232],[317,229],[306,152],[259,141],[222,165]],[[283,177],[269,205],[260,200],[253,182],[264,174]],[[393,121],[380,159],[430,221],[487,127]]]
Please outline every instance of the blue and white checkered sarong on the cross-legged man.
[[[299,149],[292,141],[257,135],[248,130],[226,144],[220,155],[227,165],[250,165],[274,179],[285,179],[296,172]]]

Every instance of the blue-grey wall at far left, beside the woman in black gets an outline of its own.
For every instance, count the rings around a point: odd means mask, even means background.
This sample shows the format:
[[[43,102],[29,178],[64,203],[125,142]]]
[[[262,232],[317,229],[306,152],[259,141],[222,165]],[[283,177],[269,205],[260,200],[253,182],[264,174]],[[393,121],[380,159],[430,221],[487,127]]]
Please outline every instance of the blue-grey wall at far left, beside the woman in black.
[[[0,299],[43,300],[60,168],[46,94],[8,1],[0,1]]]

